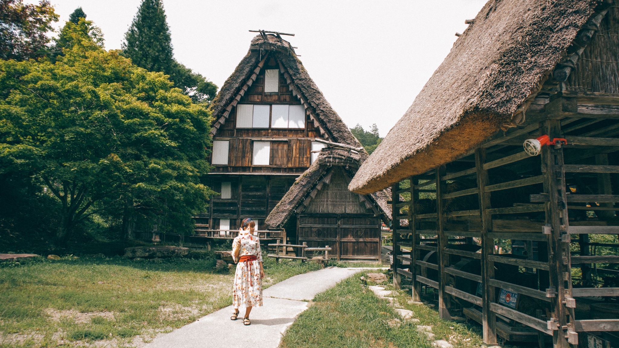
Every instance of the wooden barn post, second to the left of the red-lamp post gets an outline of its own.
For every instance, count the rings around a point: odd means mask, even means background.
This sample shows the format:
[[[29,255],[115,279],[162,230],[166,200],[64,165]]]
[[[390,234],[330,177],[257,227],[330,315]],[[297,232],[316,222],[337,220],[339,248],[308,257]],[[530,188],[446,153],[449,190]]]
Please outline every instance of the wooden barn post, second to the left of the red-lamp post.
[[[446,320],[451,319],[449,315],[449,294],[445,292],[445,285],[447,284],[448,274],[445,272],[445,268],[449,267],[449,254],[444,252],[447,248],[448,236],[443,234],[443,228],[445,227],[444,211],[443,211],[443,194],[444,187],[441,176],[444,175],[445,166],[441,165],[436,168],[436,243],[438,245],[438,315]]]

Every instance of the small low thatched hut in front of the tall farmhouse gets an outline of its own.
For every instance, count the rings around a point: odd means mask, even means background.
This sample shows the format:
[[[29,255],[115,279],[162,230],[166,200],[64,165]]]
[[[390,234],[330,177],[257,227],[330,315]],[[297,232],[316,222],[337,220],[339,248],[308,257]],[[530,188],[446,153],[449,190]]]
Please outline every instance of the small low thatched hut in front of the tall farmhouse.
[[[329,146],[295,181],[266,224],[284,228],[290,240],[330,246],[337,259],[381,259],[381,222],[389,225],[388,194],[357,194],[348,183],[368,157],[361,150]]]

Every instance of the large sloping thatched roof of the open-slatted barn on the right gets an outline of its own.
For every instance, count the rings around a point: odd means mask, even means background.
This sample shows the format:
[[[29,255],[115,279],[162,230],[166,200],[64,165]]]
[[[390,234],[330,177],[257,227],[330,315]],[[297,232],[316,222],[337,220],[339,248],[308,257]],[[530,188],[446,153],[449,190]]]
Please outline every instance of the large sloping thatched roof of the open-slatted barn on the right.
[[[529,98],[587,19],[608,6],[595,9],[600,2],[488,1],[349,189],[384,189],[451,162],[499,129],[522,123]]]

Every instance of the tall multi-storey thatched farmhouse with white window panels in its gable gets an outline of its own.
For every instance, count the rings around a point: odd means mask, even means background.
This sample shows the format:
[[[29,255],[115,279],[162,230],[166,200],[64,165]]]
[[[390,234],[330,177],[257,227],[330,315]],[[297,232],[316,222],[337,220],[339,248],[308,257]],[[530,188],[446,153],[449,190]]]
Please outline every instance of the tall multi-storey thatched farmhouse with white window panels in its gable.
[[[361,144],[335,113],[279,33],[261,32],[212,103],[214,124],[206,184],[217,191],[201,230],[235,230],[245,217],[258,228],[295,179],[326,146]]]

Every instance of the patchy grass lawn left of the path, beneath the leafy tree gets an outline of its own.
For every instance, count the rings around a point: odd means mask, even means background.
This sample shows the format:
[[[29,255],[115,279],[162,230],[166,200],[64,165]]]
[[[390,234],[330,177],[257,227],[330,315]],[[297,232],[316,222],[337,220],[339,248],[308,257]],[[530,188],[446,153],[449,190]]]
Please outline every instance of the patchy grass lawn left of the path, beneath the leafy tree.
[[[265,258],[264,287],[321,268]],[[215,260],[72,256],[0,266],[0,347],[148,341],[232,303],[233,271]],[[133,345],[131,344],[131,345]]]

